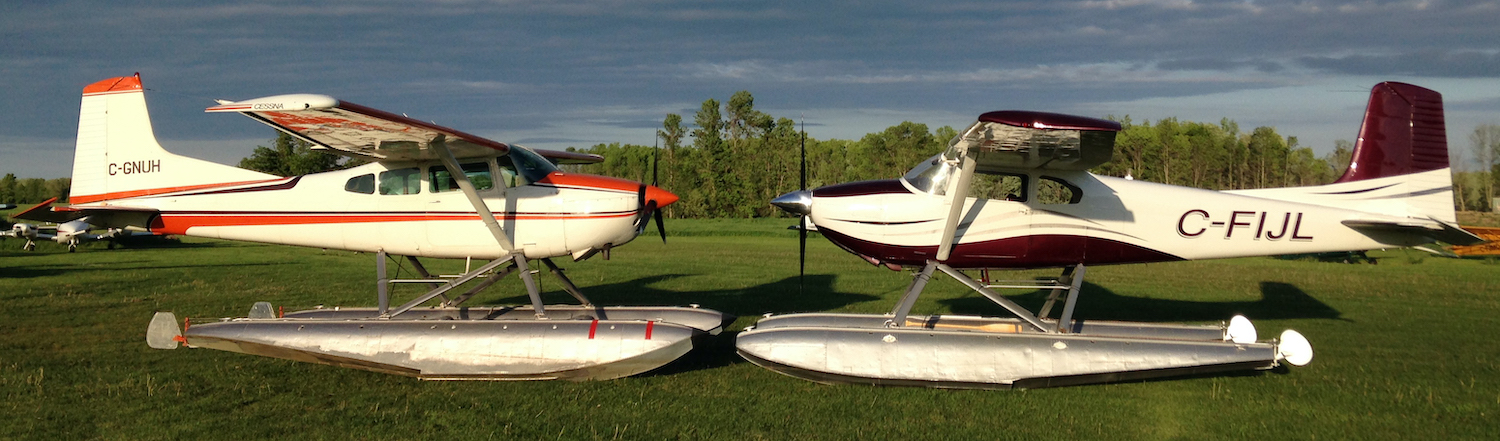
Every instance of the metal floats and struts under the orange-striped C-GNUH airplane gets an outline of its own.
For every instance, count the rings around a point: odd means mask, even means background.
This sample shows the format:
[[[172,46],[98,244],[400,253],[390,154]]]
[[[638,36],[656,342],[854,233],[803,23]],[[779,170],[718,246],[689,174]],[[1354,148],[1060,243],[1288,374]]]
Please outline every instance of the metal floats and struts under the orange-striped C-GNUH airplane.
[[[376,258],[386,260],[382,254]],[[687,354],[696,338],[717,334],[734,321],[696,306],[594,306],[556,266],[543,262],[582,304],[543,306],[531,272],[519,272],[528,279],[531,306],[462,306],[474,292],[516,272],[508,258],[447,279],[428,274],[417,262],[422,279],[387,279],[381,264],[376,267],[381,308],[309,309],[278,316],[270,303],[261,302],[243,318],[183,327],[174,314],[158,312],[146,339],[158,350],[186,345],[422,380],[590,381],[662,368]],[[495,272],[504,264],[510,267]],[[447,296],[482,276],[484,282],[468,292]],[[388,308],[392,284],[435,288]],[[418,308],[436,297],[447,300]]]

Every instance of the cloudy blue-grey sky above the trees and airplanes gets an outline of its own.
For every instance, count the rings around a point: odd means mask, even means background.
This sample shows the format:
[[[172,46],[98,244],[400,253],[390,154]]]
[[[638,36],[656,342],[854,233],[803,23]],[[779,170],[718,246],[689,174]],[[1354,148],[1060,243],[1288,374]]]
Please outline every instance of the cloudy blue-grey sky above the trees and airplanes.
[[[280,93],[540,148],[651,144],[738,90],[822,140],[1040,110],[1228,117],[1322,154],[1386,80],[1443,93],[1454,150],[1500,123],[1497,2],[224,3],[0,4],[0,174],[69,176],[80,92],[135,72],[162,144],[226,164],[274,132],[202,110]]]

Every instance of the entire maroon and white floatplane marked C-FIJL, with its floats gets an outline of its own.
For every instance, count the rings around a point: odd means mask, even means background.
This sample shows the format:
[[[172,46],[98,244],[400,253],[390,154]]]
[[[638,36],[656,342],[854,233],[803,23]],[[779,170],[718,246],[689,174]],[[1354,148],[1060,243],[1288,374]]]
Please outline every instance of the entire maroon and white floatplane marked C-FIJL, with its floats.
[[[1299,333],[1257,342],[1254,326],[1074,318],[1084,268],[1482,242],[1455,226],[1437,92],[1374,87],[1348,171],[1326,186],[1204,190],[1095,176],[1120,124],[996,111],[902,178],[792,192],[802,214],[866,261],[920,268],[891,314],[790,314],[740,333],[750,362],[820,382],[1047,387],[1232,369],[1302,366]],[[806,160],[804,160],[806,162]],[[806,240],[806,236],[804,236]],[[975,280],[960,270],[1062,267],[1054,280]],[[933,272],[1014,318],[912,316]],[[1050,290],[1038,314],[996,288]],[[1048,318],[1062,300],[1058,318]]]

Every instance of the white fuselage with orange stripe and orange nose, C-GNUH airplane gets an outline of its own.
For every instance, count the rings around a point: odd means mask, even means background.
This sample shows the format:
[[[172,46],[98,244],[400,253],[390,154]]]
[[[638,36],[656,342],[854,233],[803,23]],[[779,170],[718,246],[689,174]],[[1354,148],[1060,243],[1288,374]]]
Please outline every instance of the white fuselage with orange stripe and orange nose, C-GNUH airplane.
[[[642,189],[658,207],[676,200],[654,186],[549,165],[518,171],[510,158],[526,153],[518,147],[510,156],[459,162],[528,258],[582,256],[624,244],[638,234]],[[75,207],[90,206],[156,210],[150,231],[164,234],[435,258],[507,255],[436,160],[376,162]]]

